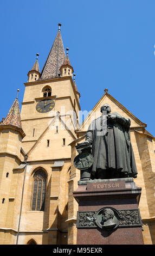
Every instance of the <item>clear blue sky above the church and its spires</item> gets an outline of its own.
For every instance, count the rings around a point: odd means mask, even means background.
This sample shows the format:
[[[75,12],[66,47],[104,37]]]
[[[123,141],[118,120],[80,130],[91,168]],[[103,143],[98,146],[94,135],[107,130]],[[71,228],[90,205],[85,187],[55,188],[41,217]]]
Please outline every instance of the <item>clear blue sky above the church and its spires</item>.
[[[41,70],[60,22],[81,109],[90,111],[108,88],[155,136],[154,10],[154,0],[1,0],[0,119],[18,88],[21,106],[36,53]]]

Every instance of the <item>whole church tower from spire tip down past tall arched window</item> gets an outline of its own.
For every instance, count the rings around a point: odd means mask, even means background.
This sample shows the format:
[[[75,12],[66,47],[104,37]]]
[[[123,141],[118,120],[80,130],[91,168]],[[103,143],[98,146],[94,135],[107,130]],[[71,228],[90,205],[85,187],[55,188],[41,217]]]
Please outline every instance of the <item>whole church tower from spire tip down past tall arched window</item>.
[[[77,139],[80,93],[64,52],[61,24],[40,72],[38,54],[28,72],[21,108],[27,156],[15,243],[67,244],[70,144]],[[65,71],[66,69],[66,71]],[[66,74],[64,74],[66,72]],[[20,175],[20,174],[19,174]],[[20,194],[20,193],[19,193]],[[23,196],[22,196],[23,194]]]

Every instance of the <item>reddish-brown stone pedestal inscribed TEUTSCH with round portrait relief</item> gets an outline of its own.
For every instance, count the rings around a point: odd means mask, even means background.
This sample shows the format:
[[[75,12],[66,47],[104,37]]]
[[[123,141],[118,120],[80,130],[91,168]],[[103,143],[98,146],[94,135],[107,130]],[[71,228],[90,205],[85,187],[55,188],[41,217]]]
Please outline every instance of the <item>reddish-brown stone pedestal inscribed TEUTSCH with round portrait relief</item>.
[[[138,204],[141,188],[133,178],[79,181],[78,245],[143,245]],[[108,216],[108,217],[107,217]]]

